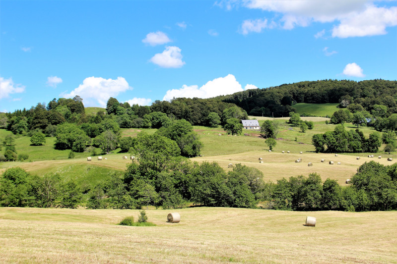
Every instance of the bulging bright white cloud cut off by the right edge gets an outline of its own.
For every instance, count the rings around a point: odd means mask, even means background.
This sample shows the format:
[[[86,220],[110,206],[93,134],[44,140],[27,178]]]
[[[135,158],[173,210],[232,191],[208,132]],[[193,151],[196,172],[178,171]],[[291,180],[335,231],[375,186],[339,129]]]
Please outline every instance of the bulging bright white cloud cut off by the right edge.
[[[385,35],[386,27],[397,25],[397,7],[369,6],[364,12],[354,12],[340,20],[332,29],[332,37],[348,38]]]

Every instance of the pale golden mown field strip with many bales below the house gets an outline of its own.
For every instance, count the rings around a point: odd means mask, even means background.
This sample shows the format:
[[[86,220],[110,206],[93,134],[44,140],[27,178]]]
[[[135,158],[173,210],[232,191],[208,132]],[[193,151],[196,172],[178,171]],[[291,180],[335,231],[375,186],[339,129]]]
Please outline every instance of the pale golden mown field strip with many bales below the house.
[[[239,154],[220,155],[220,156],[207,156],[192,158],[194,161],[216,161],[224,170],[229,171],[232,168],[228,168],[228,164],[241,163],[249,167],[255,167],[264,173],[265,181],[275,182],[281,178],[289,178],[290,176],[304,175],[307,176],[309,173],[317,172],[320,174],[323,181],[327,178],[338,180],[340,185],[346,185],[345,180],[357,172],[357,168],[365,161],[374,160],[384,165],[393,164],[395,161],[388,161],[387,158],[367,158],[361,155],[361,159],[356,159],[357,156],[342,155],[338,154],[337,157],[334,154],[322,154],[312,152],[299,152],[287,153],[288,149],[285,149],[285,153],[281,151],[249,151]],[[264,163],[259,163],[258,158],[263,158]],[[302,162],[296,163],[295,160],[302,158]],[[321,162],[324,158],[325,162]],[[333,165],[329,164],[329,161],[334,161]],[[313,166],[309,167],[308,163],[312,162]],[[337,165],[337,162],[341,162]]]

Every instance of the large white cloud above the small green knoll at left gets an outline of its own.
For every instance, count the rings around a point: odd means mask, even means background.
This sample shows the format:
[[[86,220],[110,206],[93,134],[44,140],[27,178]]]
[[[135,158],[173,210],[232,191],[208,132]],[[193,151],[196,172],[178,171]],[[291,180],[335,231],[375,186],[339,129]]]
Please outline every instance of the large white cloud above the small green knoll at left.
[[[104,79],[101,77],[85,78],[83,83],[69,94],[63,94],[66,98],[73,98],[76,95],[84,100],[84,106],[100,105],[105,107],[110,97],[116,97],[119,93],[132,90],[123,77],[117,79]]]

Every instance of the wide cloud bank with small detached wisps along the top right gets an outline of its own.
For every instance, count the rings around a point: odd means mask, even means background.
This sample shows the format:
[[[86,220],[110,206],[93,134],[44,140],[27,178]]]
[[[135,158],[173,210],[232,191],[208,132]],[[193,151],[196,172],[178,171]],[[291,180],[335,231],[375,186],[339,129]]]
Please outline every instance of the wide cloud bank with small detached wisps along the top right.
[[[284,29],[305,27],[312,22],[335,23],[332,37],[348,38],[386,34],[386,28],[397,25],[397,7],[378,7],[370,0],[225,0],[217,5],[243,5],[251,9],[276,12],[274,16],[277,26]],[[376,1],[375,1],[376,2]],[[222,3],[222,4],[220,4]],[[257,22],[255,22],[257,21]],[[251,23],[250,23],[251,22]],[[261,32],[265,28],[265,19],[246,20],[243,25]],[[242,33],[244,34],[244,30]],[[316,37],[322,37],[321,31]]]

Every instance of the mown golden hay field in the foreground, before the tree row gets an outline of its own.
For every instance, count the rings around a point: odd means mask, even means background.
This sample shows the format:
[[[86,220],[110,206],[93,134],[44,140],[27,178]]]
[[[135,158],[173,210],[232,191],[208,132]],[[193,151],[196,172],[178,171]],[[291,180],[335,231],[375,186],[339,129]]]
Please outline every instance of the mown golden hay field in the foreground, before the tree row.
[[[396,263],[397,212],[0,208],[0,263]],[[307,227],[306,216],[317,218]]]

